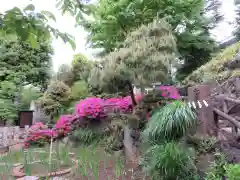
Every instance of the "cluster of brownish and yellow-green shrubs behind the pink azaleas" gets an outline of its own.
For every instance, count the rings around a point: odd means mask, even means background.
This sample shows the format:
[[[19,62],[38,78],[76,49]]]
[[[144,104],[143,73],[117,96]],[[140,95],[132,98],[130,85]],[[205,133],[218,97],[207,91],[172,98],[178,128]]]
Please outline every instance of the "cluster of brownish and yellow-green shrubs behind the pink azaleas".
[[[63,113],[72,113],[74,104],[89,95],[88,75],[92,62],[82,54],[73,57],[72,65],[62,64],[47,90],[38,99],[42,111],[54,121]]]

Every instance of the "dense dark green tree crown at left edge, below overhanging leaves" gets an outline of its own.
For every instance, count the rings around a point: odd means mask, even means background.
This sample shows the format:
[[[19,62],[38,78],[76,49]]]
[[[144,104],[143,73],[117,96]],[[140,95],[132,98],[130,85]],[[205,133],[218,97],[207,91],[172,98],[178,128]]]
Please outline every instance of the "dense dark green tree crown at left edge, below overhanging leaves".
[[[52,67],[53,50],[48,43],[32,48],[22,41],[0,42],[0,80],[16,85],[46,88]]]

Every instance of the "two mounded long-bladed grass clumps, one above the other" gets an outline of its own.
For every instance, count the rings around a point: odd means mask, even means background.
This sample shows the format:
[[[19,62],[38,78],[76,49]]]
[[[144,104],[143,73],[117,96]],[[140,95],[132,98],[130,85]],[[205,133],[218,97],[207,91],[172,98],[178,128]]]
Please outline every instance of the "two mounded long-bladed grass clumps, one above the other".
[[[146,151],[141,161],[151,179],[198,179],[194,153],[180,141],[196,125],[196,114],[180,101],[166,104],[152,115],[143,132]]]

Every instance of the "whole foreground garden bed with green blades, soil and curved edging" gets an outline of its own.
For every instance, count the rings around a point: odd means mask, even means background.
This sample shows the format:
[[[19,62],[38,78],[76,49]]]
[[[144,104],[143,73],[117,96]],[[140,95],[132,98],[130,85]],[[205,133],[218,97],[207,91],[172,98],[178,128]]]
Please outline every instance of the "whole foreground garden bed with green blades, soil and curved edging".
[[[106,154],[104,148],[99,146],[63,148],[63,145],[54,144],[51,166],[49,147],[9,152],[0,159],[0,176],[18,178],[62,176],[79,180],[132,179],[135,176],[134,167],[131,163],[124,162],[123,153]],[[18,171],[19,176],[13,173],[14,169],[15,173]]]

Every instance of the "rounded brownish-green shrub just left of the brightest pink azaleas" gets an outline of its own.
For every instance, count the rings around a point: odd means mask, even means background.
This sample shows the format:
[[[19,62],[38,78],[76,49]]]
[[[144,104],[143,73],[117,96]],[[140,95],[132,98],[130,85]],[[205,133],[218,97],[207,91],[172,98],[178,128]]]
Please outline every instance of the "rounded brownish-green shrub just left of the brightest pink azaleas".
[[[69,104],[70,88],[61,81],[52,81],[38,104],[51,120],[63,114]]]

